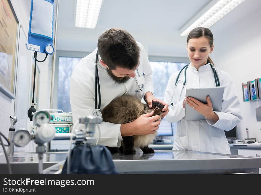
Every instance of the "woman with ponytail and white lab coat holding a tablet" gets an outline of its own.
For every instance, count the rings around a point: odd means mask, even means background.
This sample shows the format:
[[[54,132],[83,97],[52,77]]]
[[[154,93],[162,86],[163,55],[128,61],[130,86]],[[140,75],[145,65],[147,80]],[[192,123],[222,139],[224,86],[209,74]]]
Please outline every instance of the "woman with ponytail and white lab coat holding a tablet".
[[[224,130],[233,129],[242,120],[240,104],[230,75],[214,67],[209,57],[213,48],[213,34],[208,28],[198,27],[189,33],[187,52],[190,64],[187,66],[184,88],[216,87],[213,67],[219,77],[220,86],[225,87],[222,110],[213,111],[209,96],[206,97],[207,104],[192,97],[185,97],[186,90],[182,90],[185,69],[179,76],[179,72],[172,74],[165,91],[164,102],[170,105],[170,111],[166,115],[167,121],[178,122],[173,150],[230,154]],[[177,77],[179,79],[175,86]],[[205,120],[186,121],[185,104],[205,116]]]

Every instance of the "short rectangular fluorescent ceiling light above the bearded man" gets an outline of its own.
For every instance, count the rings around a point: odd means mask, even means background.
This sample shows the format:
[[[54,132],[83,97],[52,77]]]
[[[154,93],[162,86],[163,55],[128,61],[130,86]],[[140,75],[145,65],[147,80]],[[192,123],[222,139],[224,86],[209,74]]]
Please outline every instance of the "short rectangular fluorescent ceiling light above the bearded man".
[[[102,0],[77,0],[75,27],[96,28]]]

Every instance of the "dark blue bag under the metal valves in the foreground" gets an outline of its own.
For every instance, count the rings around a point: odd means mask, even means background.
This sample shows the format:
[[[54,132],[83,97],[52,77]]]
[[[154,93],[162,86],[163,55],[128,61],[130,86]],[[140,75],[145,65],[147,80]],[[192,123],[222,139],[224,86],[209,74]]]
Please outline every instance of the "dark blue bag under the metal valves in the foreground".
[[[67,160],[61,174],[67,173]],[[70,174],[118,174],[110,151],[103,145],[77,145],[71,150]]]

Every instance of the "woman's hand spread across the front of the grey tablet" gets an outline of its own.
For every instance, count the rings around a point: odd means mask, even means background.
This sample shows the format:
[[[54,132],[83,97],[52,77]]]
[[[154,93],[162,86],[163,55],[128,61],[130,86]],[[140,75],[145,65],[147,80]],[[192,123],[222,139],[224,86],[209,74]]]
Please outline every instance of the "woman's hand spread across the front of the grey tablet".
[[[213,107],[209,96],[207,96],[206,98],[207,104],[203,104],[202,102],[192,97],[186,97],[185,99],[190,107],[197,110],[200,114],[202,114],[207,119],[211,119],[215,123],[219,120],[218,115],[215,112],[213,112]]]

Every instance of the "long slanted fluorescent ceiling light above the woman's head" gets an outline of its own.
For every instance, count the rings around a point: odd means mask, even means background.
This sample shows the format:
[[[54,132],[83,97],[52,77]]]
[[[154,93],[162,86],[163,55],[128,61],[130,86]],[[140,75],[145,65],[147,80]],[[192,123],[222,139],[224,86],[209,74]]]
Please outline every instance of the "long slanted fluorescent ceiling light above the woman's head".
[[[213,7],[206,11],[200,18],[198,18],[198,20],[196,20],[192,25],[190,25],[186,30],[184,30],[180,34],[180,36],[187,36],[190,33],[190,31],[196,27],[209,28],[244,1],[245,0],[218,1]]]

